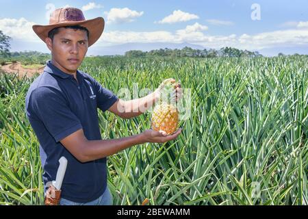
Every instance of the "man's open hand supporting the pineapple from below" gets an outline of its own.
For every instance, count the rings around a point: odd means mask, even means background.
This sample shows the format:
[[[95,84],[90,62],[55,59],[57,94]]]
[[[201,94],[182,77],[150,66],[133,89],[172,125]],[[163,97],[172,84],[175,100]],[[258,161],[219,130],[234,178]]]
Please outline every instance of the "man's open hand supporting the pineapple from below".
[[[172,133],[170,136],[168,136],[166,131],[154,131],[149,129],[142,133],[142,137],[144,138],[144,142],[164,143],[177,138],[181,131],[182,129],[178,129],[175,131],[175,133]]]

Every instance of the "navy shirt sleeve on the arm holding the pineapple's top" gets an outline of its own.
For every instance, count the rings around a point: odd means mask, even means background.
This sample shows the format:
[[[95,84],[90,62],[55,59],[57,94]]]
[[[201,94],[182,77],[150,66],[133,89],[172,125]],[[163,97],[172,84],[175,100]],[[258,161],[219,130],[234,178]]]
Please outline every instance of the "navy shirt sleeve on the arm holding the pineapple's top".
[[[97,107],[103,112],[108,110],[116,101],[118,101],[118,96],[112,91],[103,88],[101,84],[94,80],[95,89],[97,90]]]

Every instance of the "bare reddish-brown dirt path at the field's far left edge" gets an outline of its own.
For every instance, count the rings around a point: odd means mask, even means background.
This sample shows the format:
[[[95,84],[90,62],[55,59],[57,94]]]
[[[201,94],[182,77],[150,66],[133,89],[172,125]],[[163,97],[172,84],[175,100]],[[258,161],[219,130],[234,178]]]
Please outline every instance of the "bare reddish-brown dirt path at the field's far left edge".
[[[13,64],[5,64],[4,66],[1,66],[1,70],[3,70],[5,73],[18,73],[19,78],[23,77],[24,75],[27,75],[27,77],[32,77],[35,73],[42,73],[44,66],[41,68],[23,68],[20,62],[16,62]]]

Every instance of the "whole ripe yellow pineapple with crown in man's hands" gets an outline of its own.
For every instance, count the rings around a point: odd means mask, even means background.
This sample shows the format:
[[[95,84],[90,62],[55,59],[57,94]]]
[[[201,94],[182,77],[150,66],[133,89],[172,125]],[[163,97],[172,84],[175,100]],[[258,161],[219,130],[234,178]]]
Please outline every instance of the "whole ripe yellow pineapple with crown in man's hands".
[[[168,96],[170,91],[176,87],[177,83],[167,82],[162,90],[162,94]],[[159,105],[154,107],[151,123],[152,129],[155,131],[166,131],[167,135],[174,133],[179,123],[179,111],[177,110],[176,104],[168,103],[168,100],[163,99],[161,95]]]

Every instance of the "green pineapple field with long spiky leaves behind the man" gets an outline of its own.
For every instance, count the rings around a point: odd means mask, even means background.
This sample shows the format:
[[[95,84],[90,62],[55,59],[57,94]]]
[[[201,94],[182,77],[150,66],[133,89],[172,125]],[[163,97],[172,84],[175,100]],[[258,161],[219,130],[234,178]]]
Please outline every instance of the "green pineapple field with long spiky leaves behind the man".
[[[184,88],[179,138],[108,157],[115,205],[308,204],[307,56],[87,57],[80,70],[130,99],[134,87],[155,90],[168,78]],[[37,76],[0,72],[0,205],[44,205],[25,115]],[[151,110],[129,120],[99,110],[99,125],[103,139],[138,134],[151,128]]]

